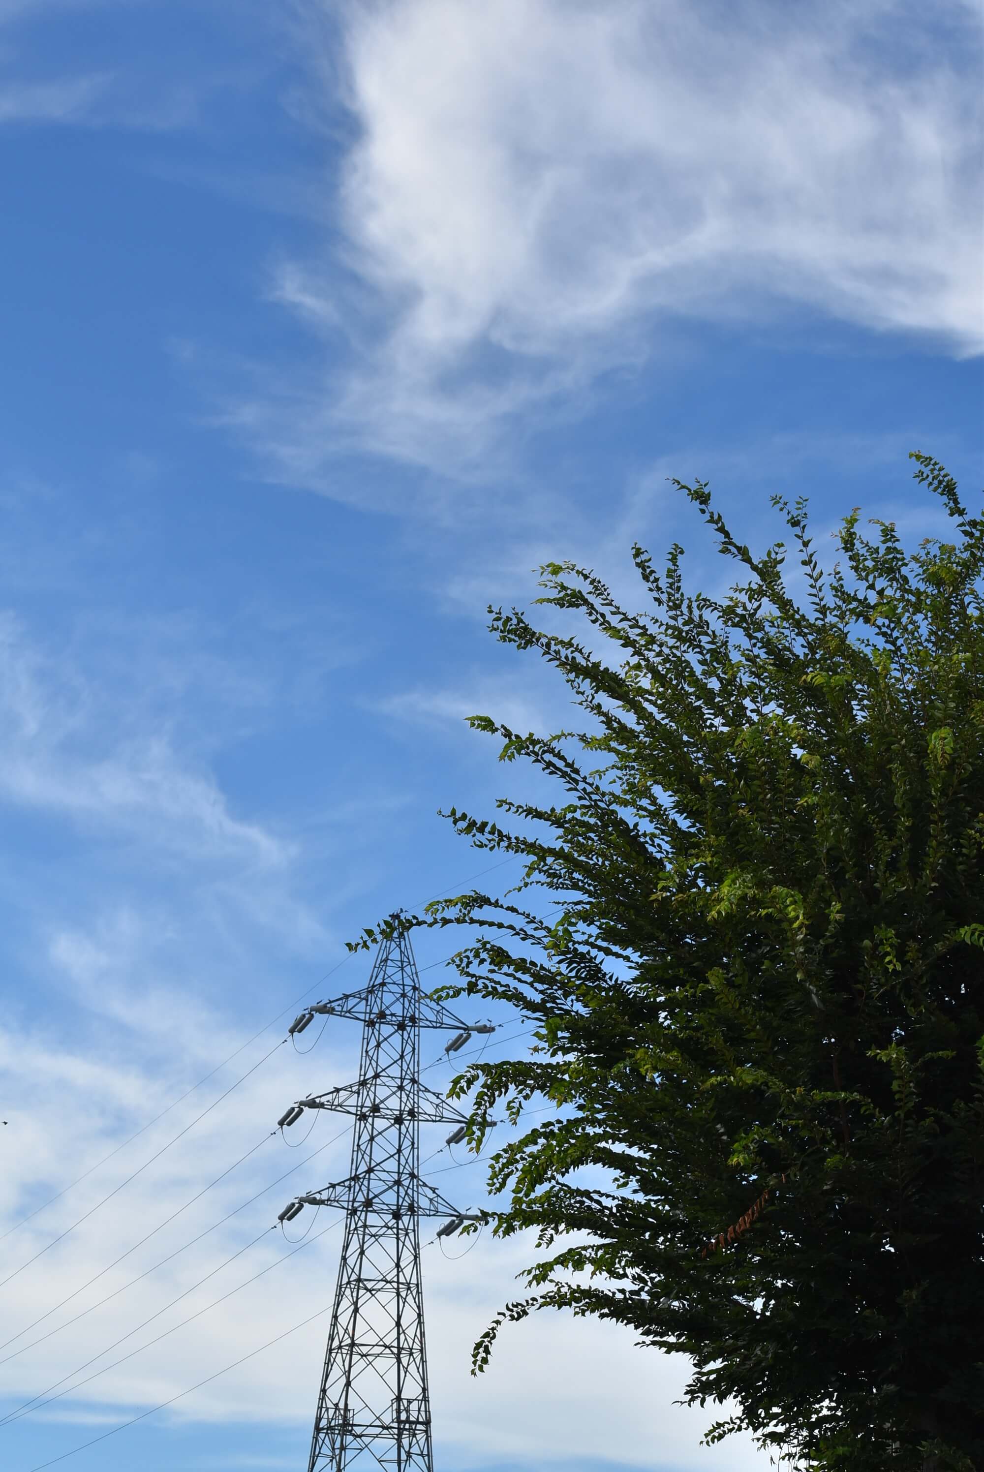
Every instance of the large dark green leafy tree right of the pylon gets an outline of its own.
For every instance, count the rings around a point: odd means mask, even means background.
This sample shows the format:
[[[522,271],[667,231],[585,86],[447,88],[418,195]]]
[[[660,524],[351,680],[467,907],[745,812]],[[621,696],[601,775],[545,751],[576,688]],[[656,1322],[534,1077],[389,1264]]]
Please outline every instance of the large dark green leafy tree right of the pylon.
[[[479,923],[446,995],[538,1029],[457,1082],[473,1139],[502,1101],[558,1105],[492,1157],[495,1231],[545,1256],[476,1367],[507,1319],[600,1314],[689,1354],[691,1401],[734,1400],[710,1440],[846,1472],[984,1466],[984,518],[913,459],[952,542],[907,552],[851,512],[825,574],[804,502],[775,498],[801,602],[782,542],[754,556],[678,481],[741,570],[728,596],[635,546],[641,614],[542,570],[588,640],[491,609],[588,721],[471,720],[564,796],[501,801],[511,827],[452,811],[524,858],[520,894],[414,921]]]

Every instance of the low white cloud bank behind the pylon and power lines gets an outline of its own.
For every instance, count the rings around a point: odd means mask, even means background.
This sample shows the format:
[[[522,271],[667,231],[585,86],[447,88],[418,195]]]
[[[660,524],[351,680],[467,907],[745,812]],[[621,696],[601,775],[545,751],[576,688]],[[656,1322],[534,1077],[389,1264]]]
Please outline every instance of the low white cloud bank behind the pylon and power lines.
[[[355,964],[365,969],[370,963],[364,960]],[[351,980],[346,982],[346,986],[351,985]],[[102,1029],[97,1064],[91,1058],[91,1050],[80,1048],[74,1039],[53,1047],[40,1019],[24,1027],[9,1019],[0,1022],[0,1089],[4,1100],[10,1101],[4,1114],[10,1125],[4,1129],[0,1231],[6,1231],[35,1200],[43,1200],[52,1189],[97,1161],[143,1119],[164,1108],[205,1070],[208,1048],[214,1058],[221,1058],[236,1047],[239,1038],[217,1016],[203,1029],[200,1008],[178,995],[172,998],[172,1036],[199,1036],[193,1054],[183,1055],[177,1070],[174,1057],[159,1057],[149,1048],[147,1029],[136,1016],[106,1017],[103,1011],[93,1014]],[[87,1030],[82,1026],[82,1032]],[[219,1104],[133,1185],[0,1288],[4,1310],[0,1341],[16,1335],[60,1303],[214,1181],[264,1138],[289,1100],[315,1086],[345,1082],[355,1063],[351,1050],[356,1042],[355,1027],[339,1026],[326,1045],[308,1058],[296,1058],[286,1048],[274,1055],[228,1103]],[[342,1054],[339,1044],[346,1050]],[[267,1042],[258,1041],[242,1060],[186,1100],[106,1167],[7,1236],[4,1272],[0,1276],[25,1263],[56,1232],[71,1226],[96,1206],[136,1166],[150,1160],[162,1144],[218,1098],[267,1047]],[[38,1079],[44,1079],[43,1089],[37,1086]],[[91,1288],[84,1289],[71,1304],[10,1345],[0,1347],[3,1360],[80,1310],[97,1304],[199,1232],[218,1223],[267,1182],[302,1161],[309,1150],[331,1141],[334,1135],[342,1136],[323,1156],[302,1166],[295,1176],[218,1226],[187,1253],[149,1273],[112,1301],[93,1307],[78,1323],[66,1325],[37,1348],[7,1360],[3,1365],[6,1409],[41,1394],[63,1375],[69,1376],[69,1384],[75,1384],[72,1372],[77,1366],[99,1356],[158,1310],[165,1309],[161,1317],[118,1348],[100,1356],[81,1376],[138,1348],[228,1289],[246,1285],[253,1273],[277,1262],[286,1251],[286,1244],[280,1234],[268,1232],[264,1241],[250,1247],[236,1263],[221,1267],[209,1282],[194,1288],[199,1279],[261,1234],[296,1191],[317,1188],[345,1175],[345,1120],[320,1116],[317,1132],[305,1148],[292,1153],[278,1141],[261,1145],[255,1156],[209,1189],[200,1201],[119,1266],[112,1267]],[[437,1144],[440,1135],[435,1133]],[[480,1166],[471,1166],[436,1176],[435,1181],[451,1200],[470,1203],[482,1200],[480,1172]],[[328,1220],[330,1214],[323,1213],[315,1231]],[[99,1429],[180,1394],[301,1323],[321,1304],[331,1301],[339,1235],[336,1226],[323,1242],[305,1248],[255,1285],[243,1287],[242,1292],[236,1292],[193,1325],[178,1329],[159,1345],[136,1354],[108,1375],[80,1385],[50,1407],[18,1422],[19,1434],[31,1432],[34,1447],[43,1453],[50,1446],[44,1422],[56,1419],[62,1423],[63,1434],[63,1423],[75,1420],[78,1441],[85,1441]],[[611,1326],[574,1323],[569,1317],[545,1314],[523,1328],[507,1331],[488,1375],[473,1379],[468,1373],[470,1347],[501,1303],[516,1297],[514,1275],[529,1251],[529,1242],[496,1244],[491,1238],[479,1239],[457,1262],[446,1260],[437,1247],[424,1250],[435,1428],[445,1463],[463,1469],[501,1465],[566,1468],[577,1459],[598,1457],[648,1469],[672,1466],[675,1472],[744,1472],[753,1466],[766,1466],[765,1457],[759,1457],[747,1441],[701,1448],[700,1435],[711,1418],[706,1410],[685,1410],[673,1404],[683,1384],[683,1363],[638,1351],[630,1334]],[[449,1253],[449,1259],[454,1257],[457,1251]],[[174,1309],[166,1307],[187,1288],[193,1291],[183,1303]],[[172,1419],[180,1425],[292,1425],[299,1428],[303,1440],[314,1415],[327,1323],[327,1316],[315,1320],[270,1353],[178,1401],[144,1435],[165,1438],[168,1419]],[[4,1434],[0,1426],[0,1447]]]

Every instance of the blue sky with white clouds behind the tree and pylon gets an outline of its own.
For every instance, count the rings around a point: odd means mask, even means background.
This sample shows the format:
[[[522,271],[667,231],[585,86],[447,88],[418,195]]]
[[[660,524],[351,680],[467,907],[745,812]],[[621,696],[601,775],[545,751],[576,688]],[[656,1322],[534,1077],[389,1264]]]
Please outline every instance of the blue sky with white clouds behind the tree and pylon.
[[[464,717],[570,720],[486,606],[561,558],[630,602],[636,539],[720,590],[675,475],[754,545],[807,495],[825,548],[853,506],[938,530],[912,449],[980,486],[981,18],[0,0],[10,1472],[306,1466],[339,1231],[270,1228],[345,1122],[271,1130],[358,1039],[278,1014],[489,867],[439,813],[533,779]],[[529,1242],[467,1245],[424,1248],[437,1472],[765,1472],[613,1326],[542,1316],[473,1379]]]

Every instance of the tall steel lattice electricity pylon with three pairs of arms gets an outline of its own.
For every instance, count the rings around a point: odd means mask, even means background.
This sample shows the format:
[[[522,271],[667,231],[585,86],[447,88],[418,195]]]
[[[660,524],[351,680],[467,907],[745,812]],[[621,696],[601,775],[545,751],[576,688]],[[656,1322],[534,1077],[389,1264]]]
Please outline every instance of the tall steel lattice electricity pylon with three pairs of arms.
[[[465,1125],[464,1114],[420,1082],[420,1029],[457,1033],[448,1052],[471,1032],[493,1029],[468,1027],[421,995],[410,938],[399,916],[392,919],[368,985],[318,1002],[290,1029],[303,1032],[317,1013],[362,1023],[358,1080],[299,1100],[278,1122],[290,1128],[308,1108],[355,1117],[348,1178],[298,1197],[280,1216],[290,1222],[305,1206],[346,1213],[308,1472],[433,1472],[420,1219],[446,1216],[439,1236],[482,1220],[420,1179],[420,1125],[454,1125],[449,1142],[463,1138]]]

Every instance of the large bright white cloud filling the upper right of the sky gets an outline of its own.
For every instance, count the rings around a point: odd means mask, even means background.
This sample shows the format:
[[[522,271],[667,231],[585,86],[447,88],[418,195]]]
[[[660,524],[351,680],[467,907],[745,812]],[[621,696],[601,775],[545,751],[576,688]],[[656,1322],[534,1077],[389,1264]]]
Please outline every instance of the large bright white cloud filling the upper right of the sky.
[[[289,428],[245,415],[289,474],[330,483],[339,445],[474,468],[681,315],[794,303],[980,349],[974,7],[392,0],[346,21],[352,286],[333,258],[278,294],[358,346]]]

